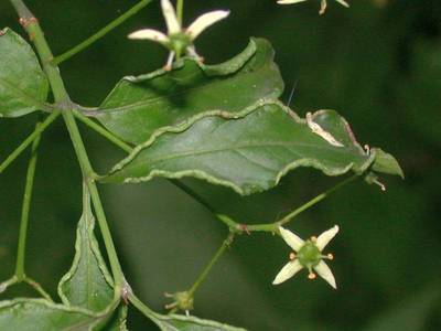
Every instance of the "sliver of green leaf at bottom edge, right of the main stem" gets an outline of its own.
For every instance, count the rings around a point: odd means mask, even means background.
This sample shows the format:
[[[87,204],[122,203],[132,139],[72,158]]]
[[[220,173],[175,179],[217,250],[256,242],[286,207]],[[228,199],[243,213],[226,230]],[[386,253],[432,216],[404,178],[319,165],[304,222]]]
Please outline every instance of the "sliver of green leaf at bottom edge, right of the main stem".
[[[241,328],[182,314],[154,314],[150,318],[162,331],[246,331]]]

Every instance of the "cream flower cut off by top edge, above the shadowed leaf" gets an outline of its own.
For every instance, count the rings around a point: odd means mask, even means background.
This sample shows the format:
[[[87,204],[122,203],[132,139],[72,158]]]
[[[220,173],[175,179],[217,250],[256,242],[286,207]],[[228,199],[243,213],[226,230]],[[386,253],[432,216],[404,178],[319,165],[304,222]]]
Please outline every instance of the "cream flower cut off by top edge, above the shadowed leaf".
[[[198,17],[189,28],[184,29],[176,17],[170,0],[161,0],[162,14],[164,15],[168,33],[153,29],[142,29],[128,35],[129,39],[151,40],[170,50],[165,68],[171,70],[174,57],[180,58],[182,53],[202,61],[194,49],[194,40],[208,26],[228,17],[227,10],[215,10]]]

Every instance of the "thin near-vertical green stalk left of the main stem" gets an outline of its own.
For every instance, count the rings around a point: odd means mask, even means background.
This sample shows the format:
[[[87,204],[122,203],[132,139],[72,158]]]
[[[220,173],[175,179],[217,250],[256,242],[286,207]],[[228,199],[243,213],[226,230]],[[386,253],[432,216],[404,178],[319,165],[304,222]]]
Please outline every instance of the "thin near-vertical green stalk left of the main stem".
[[[35,125],[35,130],[41,126],[41,121]],[[40,145],[41,135],[34,139],[31,149],[31,159],[28,166],[26,183],[24,186],[23,205],[21,210],[20,220],[20,235],[19,235],[19,247],[17,250],[17,265],[15,276],[19,281],[23,281],[26,276],[24,273],[24,259],[26,250],[26,237],[28,237],[28,225],[29,225],[29,211],[31,207],[32,191],[34,186],[35,168],[37,159],[37,149]]]

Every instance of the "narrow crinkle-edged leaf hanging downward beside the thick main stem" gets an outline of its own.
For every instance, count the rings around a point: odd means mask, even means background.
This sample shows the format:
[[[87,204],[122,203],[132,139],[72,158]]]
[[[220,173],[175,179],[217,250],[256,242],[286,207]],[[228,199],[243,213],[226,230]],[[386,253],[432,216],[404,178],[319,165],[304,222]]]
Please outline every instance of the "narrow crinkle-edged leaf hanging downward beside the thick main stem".
[[[94,228],[90,194],[84,188],[83,215],[77,226],[75,257],[71,270],[58,284],[58,295],[66,306],[101,311],[112,301],[114,289]]]

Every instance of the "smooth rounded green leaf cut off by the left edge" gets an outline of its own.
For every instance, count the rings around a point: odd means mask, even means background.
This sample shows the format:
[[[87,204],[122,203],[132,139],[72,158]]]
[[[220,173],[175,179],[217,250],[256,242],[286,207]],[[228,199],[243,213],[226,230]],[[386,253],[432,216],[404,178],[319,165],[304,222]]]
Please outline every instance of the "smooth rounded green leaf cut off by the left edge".
[[[47,90],[47,79],[31,46],[12,30],[1,30],[0,117],[18,117],[40,109]]]

